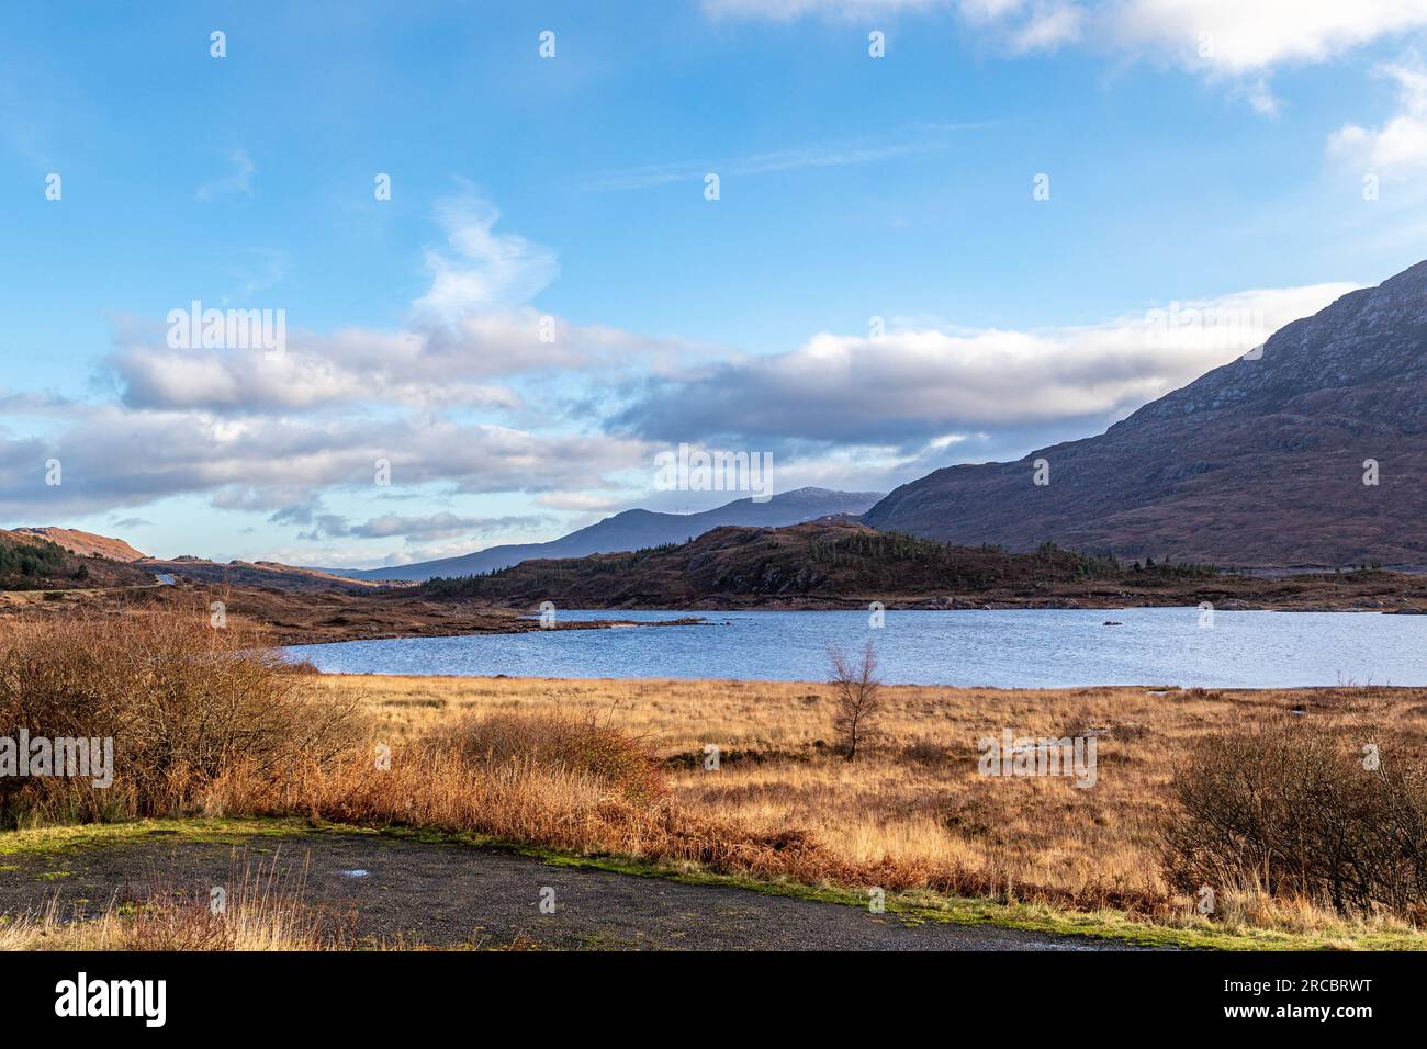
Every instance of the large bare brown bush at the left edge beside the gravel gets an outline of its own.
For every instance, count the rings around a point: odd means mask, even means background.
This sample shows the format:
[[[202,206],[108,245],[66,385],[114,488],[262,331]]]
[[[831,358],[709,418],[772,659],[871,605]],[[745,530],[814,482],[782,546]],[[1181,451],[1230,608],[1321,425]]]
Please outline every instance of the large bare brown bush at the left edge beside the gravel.
[[[317,699],[281,657],[203,607],[71,611],[0,631],[0,735],[111,738],[113,785],[0,778],[0,824],[174,815],[215,804],[235,769],[330,764],[355,739],[351,702]]]

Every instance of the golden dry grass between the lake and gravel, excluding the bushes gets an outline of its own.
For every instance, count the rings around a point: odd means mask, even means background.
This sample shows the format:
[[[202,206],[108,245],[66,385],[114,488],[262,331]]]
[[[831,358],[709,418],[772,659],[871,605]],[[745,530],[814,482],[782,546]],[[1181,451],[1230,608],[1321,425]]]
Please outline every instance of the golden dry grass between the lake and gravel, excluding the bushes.
[[[1327,719],[1371,739],[1393,725],[1427,739],[1427,689],[1223,691],[1085,688],[1046,691],[886,686],[873,752],[848,762],[832,746],[828,684],[738,681],[572,681],[321,675],[315,684],[360,701],[394,742],[465,716],[558,714],[594,718],[639,736],[668,768],[678,806],[755,833],[808,832],[860,869],[898,869],[913,883],[1000,886],[1076,909],[1156,909],[1193,901],[1166,885],[1157,828],[1169,782],[1196,739],[1276,716]],[[1097,738],[1097,778],[977,774],[977,739]],[[705,768],[719,748],[718,771]],[[918,872],[922,872],[919,875]],[[945,881],[945,878],[943,878]],[[1222,893],[1220,911],[1256,899],[1250,925],[1313,926],[1313,908],[1259,893]],[[1159,905],[1156,905],[1159,901]],[[1271,912],[1271,913],[1270,913]],[[1223,915],[1222,915],[1223,916]]]

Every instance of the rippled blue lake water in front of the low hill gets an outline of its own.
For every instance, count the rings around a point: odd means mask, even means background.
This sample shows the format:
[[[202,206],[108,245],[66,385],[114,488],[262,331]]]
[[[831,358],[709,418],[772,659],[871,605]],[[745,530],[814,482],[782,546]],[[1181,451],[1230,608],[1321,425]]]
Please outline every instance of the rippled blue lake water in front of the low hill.
[[[564,611],[571,619],[708,625],[531,631],[301,645],[293,657],[342,674],[823,681],[828,647],[876,645],[889,684],[1069,688],[1427,685],[1427,617],[1223,612],[1197,608],[886,612]],[[1106,627],[1107,619],[1120,627]]]

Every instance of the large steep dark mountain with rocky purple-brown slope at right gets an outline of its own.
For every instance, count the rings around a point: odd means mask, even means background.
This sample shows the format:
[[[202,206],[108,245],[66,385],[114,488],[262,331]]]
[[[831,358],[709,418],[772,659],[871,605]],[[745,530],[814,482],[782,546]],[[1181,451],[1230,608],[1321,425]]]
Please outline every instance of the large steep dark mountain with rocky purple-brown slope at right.
[[[1256,360],[1249,360],[1256,358]],[[1035,462],[1049,484],[1033,484]],[[1377,484],[1368,471],[1377,462]],[[902,485],[880,529],[1220,565],[1427,565],[1427,263],[1104,434]]]

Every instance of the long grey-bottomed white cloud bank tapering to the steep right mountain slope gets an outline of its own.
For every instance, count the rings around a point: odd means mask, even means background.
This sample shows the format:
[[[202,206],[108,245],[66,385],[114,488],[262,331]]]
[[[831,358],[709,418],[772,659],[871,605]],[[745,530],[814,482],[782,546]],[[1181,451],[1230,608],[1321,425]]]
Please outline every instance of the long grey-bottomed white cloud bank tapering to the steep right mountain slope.
[[[651,381],[619,422],[648,440],[736,435],[919,448],[968,432],[1107,422],[1261,344],[1349,284],[1246,291],[1049,331],[823,333],[786,354]]]

